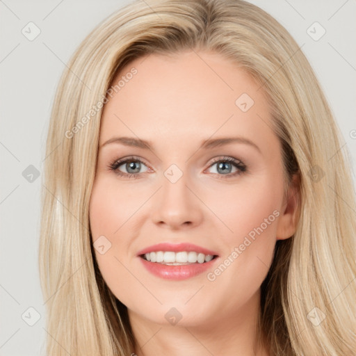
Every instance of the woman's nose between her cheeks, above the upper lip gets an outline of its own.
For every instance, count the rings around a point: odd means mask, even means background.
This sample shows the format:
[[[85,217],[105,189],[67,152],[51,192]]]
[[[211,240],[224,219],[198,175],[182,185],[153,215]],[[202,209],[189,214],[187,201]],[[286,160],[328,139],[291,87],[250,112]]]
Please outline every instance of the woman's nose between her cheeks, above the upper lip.
[[[166,177],[154,197],[152,219],[156,225],[168,229],[195,227],[202,222],[204,205],[197,193],[187,185],[186,175],[172,183]]]

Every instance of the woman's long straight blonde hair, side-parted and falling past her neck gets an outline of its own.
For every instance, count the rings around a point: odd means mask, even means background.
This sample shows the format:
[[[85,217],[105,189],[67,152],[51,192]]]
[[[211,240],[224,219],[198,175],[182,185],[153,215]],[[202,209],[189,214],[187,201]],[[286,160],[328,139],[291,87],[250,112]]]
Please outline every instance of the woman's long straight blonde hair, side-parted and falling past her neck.
[[[131,60],[183,49],[221,54],[259,83],[282,143],[286,187],[299,177],[296,234],[277,241],[261,286],[259,332],[270,355],[351,355],[356,207],[350,157],[296,41],[264,10],[241,0],[136,1],[99,24],[70,59],[44,162],[39,268],[47,354],[134,353],[127,308],[104,283],[90,236],[100,103]]]

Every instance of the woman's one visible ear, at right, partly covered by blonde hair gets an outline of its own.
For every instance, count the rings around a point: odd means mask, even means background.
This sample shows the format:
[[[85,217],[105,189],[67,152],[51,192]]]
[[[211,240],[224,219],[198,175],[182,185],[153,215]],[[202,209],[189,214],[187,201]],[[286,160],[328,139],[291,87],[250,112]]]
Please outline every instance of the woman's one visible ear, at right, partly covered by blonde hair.
[[[277,240],[285,240],[296,232],[300,213],[300,175],[293,175],[289,189],[284,196],[277,224]]]

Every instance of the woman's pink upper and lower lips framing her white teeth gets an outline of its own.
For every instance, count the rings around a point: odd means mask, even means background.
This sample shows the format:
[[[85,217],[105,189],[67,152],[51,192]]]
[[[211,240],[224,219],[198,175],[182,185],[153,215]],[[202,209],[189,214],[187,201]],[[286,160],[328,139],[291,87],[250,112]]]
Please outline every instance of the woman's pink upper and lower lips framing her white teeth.
[[[205,255],[212,254],[217,256],[217,253],[211,250],[207,250],[206,248],[201,248],[200,246],[193,245],[191,243],[179,243],[179,244],[172,244],[172,243],[158,243],[156,245],[149,246],[143,250],[140,250],[137,254],[140,257],[140,261],[143,266],[153,275],[157,277],[164,278],[166,280],[185,280],[187,278],[194,277],[195,275],[199,275],[204,271],[211,268],[213,264],[215,264],[216,259],[214,258],[209,262],[204,262],[203,264],[195,263],[189,265],[181,265],[181,266],[170,266],[165,264],[159,264],[156,262],[146,261],[141,257],[141,255],[149,252],[156,252],[156,251],[172,251],[172,252],[179,252],[179,251],[195,251],[197,253],[203,253]]]

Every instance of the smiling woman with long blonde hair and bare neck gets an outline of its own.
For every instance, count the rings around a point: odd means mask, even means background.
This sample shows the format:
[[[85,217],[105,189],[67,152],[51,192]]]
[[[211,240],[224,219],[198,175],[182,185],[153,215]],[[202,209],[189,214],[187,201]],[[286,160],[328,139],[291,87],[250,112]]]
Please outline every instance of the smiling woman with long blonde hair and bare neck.
[[[240,0],[137,1],[68,68],[43,192],[47,353],[353,355],[350,163],[291,35]]]

